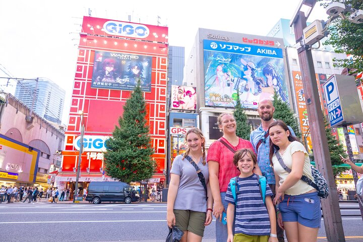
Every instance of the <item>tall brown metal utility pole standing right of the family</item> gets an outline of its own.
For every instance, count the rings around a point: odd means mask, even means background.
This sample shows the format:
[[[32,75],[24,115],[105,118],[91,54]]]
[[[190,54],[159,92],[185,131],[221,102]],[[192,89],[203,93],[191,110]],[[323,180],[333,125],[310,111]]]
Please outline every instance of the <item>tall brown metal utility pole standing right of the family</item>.
[[[314,8],[316,0],[301,0],[291,25],[294,27],[296,43],[300,42],[303,30],[307,27],[307,17],[300,11],[302,5]],[[309,16],[309,15],[308,15]],[[330,194],[322,199],[322,209],[327,240],[330,242],[345,242],[343,224],[339,209],[338,195],[333,175],[328,141],[323,125],[323,112],[321,109],[316,76],[314,71],[313,55],[310,46],[297,49],[301,69],[301,76],[309,115],[311,138],[314,150],[314,159],[317,168],[327,180]]]

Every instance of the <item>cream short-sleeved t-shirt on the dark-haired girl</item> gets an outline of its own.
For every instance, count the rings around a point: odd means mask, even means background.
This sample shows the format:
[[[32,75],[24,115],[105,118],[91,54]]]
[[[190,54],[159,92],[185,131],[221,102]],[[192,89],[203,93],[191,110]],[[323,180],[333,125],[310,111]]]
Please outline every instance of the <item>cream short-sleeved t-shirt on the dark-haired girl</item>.
[[[304,160],[304,168],[302,169],[302,174],[306,175],[307,177],[309,177],[311,180],[314,181],[308,152],[306,151],[304,145],[302,145],[300,142],[298,142],[298,141],[291,142],[287,146],[285,153],[283,155],[280,154],[283,162],[285,163],[285,165],[287,167],[289,167],[291,169],[292,162],[293,162],[292,154],[295,153],[296,151],[304,152],[305,160]],[[284,168],[282,168],[282,166],[280,165],[279,161],[277,160],[277,157],[275,154],[272,157],[272,164],[273,164],[274,171],[280,177],[279,184],[281,186],[289,173],[286,170],[284,170]],[[300,194],[307,193],[313,189],[314,188],[312,186],[308,185],[305,181],[298,180],[295,185],[293,185],[291,188],[289,188],[285,191],[285,194],[300,195]]]

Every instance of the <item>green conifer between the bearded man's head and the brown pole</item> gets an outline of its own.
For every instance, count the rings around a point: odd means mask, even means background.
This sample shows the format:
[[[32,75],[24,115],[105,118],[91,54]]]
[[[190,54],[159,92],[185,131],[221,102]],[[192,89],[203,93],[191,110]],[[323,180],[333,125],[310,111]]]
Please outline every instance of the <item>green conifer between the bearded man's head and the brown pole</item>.
[[[286,125],[290,126],[296,137],[301,138],[300,127],[296,122],[295,114],[292,112],[289,105],[282,101],[277,92],[274,93],[272,104],[275,107],[274,118],[281,119]]]

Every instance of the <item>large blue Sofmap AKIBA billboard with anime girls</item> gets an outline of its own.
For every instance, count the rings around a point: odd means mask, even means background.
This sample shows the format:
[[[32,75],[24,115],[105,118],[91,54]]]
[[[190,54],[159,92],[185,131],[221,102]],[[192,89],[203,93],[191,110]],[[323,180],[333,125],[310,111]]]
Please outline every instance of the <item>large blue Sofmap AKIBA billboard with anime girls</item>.
[[[234,107],[239,95],[244,108],[278,92],[288,102],[282,49],[203,40],[205,105]]]

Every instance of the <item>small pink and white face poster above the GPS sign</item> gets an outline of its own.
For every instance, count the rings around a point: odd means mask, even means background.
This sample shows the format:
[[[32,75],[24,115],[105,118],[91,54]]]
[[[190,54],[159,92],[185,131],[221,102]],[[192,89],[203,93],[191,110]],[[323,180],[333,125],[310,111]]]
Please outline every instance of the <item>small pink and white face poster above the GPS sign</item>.
[[[171,85],[171,109],[196,110],[197,88]]]

